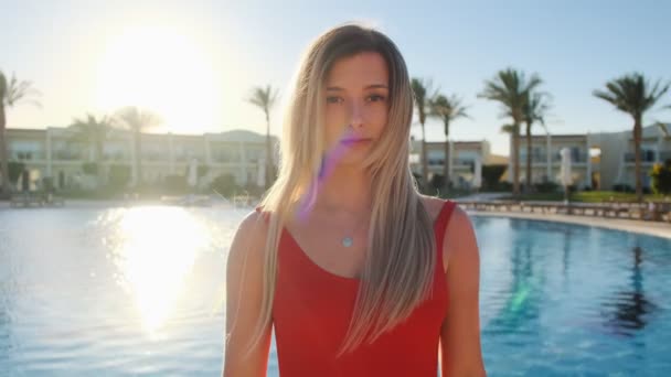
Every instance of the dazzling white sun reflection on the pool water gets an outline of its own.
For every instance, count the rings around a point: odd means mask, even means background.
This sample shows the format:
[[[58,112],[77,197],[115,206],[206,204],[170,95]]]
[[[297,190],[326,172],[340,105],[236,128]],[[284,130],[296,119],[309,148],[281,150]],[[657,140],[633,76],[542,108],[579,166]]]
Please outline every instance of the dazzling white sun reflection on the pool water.
[[[206,228],[183,208],[137,207],[117,216],[119,282],[134,293],[142,327],[152,335],[174,313],[195,257],[207,246]]]

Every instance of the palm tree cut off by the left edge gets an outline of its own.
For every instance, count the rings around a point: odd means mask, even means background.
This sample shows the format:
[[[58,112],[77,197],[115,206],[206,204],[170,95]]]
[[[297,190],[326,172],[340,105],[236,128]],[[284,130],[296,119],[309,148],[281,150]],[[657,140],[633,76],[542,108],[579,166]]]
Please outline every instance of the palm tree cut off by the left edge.
[[[0,71],[0,172],[2,177],[2,191],[0,194],[9,194],[9,161],[7,155],[7,140],[4,139],[4,129],[7,127],[7,115],[4,107],[13,107],[21,101],[28,101],[35,106],[40,103],[31,99],[31,96],[38,96],[40,93],[32,87],[31,82],[17,79],[17,75],[12,74],[8,82],[7,77]]]

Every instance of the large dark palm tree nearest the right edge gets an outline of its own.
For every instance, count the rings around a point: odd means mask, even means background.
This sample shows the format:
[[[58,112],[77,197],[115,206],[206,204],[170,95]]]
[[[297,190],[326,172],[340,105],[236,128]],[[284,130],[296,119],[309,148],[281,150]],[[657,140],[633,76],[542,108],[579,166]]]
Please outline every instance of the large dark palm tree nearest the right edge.
[[[592,93],[633,118],[636,197],[639,202],[643,200],[640,154],[643,115],[669,90],[670,85],[657,80],[654,86],[650,86],[642,74],[632,73],[606,83],[606,90],[596,89]]]

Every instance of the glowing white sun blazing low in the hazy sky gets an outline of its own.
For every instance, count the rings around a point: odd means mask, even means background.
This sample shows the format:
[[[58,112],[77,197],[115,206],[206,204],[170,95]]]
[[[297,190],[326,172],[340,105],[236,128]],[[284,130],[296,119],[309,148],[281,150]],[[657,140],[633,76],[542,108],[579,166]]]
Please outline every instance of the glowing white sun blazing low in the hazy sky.
[[[129,29],[105,49],[97,107],[139,106],[158,114],[163,131],[202,133],[220,126],[221,80],[206,51],[169,28]]]

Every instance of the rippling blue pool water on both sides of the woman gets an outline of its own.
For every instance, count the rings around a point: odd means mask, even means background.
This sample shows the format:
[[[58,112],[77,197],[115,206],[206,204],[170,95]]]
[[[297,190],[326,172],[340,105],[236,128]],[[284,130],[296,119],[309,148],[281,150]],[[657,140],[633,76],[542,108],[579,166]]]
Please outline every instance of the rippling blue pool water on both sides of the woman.
[[[219,375],[225,256],[244,214],[0,209],[0,375]],[[671,240],[472,220],[489,376],[671,374]]]

